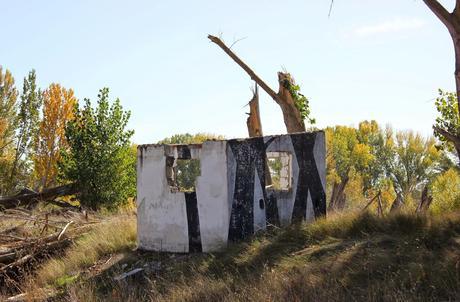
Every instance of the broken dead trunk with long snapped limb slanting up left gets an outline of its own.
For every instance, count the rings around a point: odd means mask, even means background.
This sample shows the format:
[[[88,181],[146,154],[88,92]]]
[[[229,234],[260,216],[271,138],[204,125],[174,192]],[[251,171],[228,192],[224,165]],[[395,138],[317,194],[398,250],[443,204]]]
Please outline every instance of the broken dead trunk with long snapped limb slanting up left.
[[[230,48],[228,48],[218,37],[208,35],[208,39],[217,44],[222,50],[230,56],[244,71],[255,81],[272,99],[281,107],[283,112],[284,124],[288,133],[304,132],[305,123],[302,120],[299,109],[289,92],[288,84],[294,84],[292,77],[288,73],[278,73],[279,91],[276,93],[271,89],[255,72],[249,68]]]

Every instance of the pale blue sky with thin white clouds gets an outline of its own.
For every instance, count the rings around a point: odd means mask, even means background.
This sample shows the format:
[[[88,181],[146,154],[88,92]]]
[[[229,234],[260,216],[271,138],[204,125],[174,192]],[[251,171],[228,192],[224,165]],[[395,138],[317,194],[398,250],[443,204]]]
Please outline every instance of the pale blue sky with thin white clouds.
[[[134,142],[184,132],[245,137],[251,80],[208,34],[275,91],[288,70],[319,127],[382,125],[429,135],[437,89],[454,90],[450,36],[422,0],[6,1],[0,65],[96,101],[109,87],[132,112]],[[455,1],[441,1],[448,8]],[[265,134],[285,133],[261,92]]]

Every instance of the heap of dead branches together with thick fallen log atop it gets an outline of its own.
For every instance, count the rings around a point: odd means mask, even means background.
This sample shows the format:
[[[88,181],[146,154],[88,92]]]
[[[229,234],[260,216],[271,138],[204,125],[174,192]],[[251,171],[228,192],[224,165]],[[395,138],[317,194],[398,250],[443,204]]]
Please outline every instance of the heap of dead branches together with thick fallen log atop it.
[[[37,264],[62,254],[77,237],[102,220],[96,213],[89,214],[56,199],[71,192],[75,192],[73,187],[67,185],[40,193],[23,190],[15,196],[0,198],[1,292],[20,292],[24,277]],[[39,202],[59,207],[40,210],[36,207]]]

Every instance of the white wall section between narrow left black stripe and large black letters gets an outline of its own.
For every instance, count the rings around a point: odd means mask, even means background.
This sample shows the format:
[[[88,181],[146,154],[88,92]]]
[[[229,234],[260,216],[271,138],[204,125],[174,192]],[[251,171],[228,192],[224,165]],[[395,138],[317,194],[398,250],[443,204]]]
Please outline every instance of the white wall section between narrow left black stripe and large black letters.
[[[195,188],[203,252],[227,246],[230,213],[226,150],[225,141],[209,141],[201,147],[201,175]]]

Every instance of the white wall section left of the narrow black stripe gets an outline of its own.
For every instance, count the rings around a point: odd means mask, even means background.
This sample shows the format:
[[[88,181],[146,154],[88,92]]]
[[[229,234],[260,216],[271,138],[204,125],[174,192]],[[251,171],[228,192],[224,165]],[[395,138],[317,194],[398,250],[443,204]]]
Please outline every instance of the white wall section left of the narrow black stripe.
[[[166,180],[164,146],[144,145],[137,160],[137,234],[139,248],[188,252],[183,193],[171,193]]]

